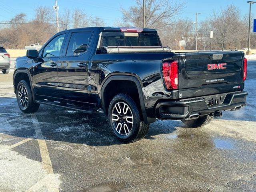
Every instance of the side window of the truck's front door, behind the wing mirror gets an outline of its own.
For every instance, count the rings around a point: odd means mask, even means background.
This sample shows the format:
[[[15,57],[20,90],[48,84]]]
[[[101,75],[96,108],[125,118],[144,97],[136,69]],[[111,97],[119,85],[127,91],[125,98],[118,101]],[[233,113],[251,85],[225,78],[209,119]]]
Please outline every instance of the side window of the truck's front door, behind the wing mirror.
[[[58,57],[66,34],[59,35],[51,40],[44,48],[43,57]]]

